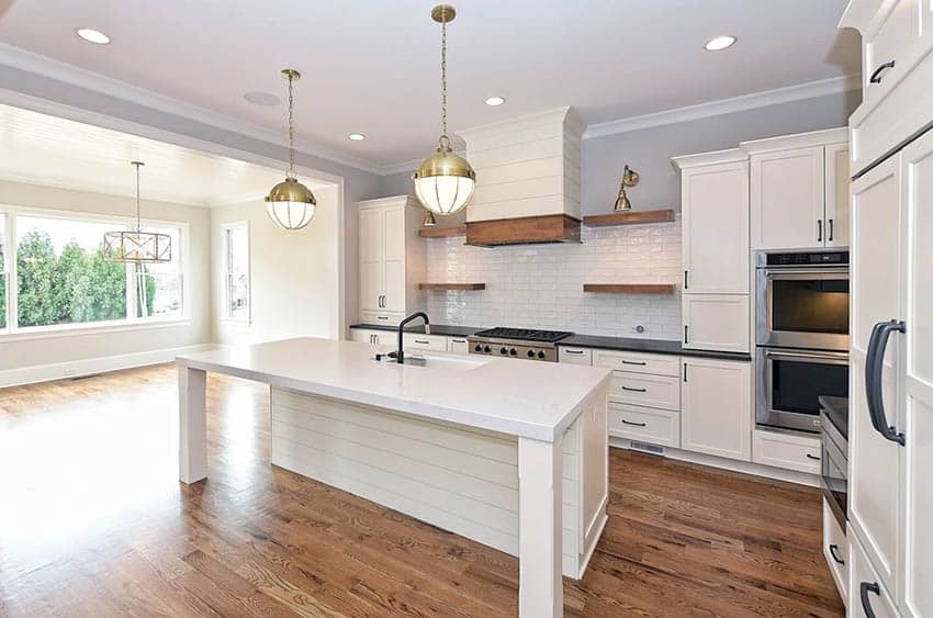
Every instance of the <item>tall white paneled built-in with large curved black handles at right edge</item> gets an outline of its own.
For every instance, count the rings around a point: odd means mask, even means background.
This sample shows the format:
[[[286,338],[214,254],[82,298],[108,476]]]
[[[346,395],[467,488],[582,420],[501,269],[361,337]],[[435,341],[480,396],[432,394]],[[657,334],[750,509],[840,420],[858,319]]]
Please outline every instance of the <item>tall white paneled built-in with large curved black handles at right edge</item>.
[[[933,4],[852,0],[851,616],[933,616]]]

